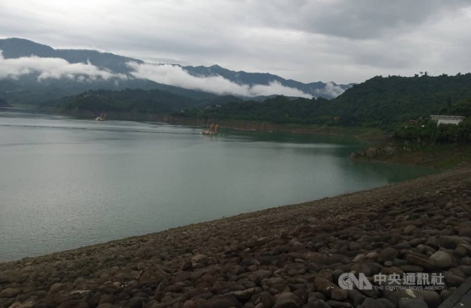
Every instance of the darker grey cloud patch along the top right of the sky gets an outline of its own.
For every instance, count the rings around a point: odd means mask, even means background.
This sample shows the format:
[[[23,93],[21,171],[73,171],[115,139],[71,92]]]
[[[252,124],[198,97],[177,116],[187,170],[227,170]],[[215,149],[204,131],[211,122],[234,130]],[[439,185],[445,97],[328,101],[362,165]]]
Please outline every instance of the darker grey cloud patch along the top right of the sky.
[[[258,8],[267,12],[266,2]],[[469,6],[466,0],[355,0],[293,2],[275,0],[263,14],[266,23],[352,39],[398,35],[444,14]],[[277,17],[277,18],[274,18]]]

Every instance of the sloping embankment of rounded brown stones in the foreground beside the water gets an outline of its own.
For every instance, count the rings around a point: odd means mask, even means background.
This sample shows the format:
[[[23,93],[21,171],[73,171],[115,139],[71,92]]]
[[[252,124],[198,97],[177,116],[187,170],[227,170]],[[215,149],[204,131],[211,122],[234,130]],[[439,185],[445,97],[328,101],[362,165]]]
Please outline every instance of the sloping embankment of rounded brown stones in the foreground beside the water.
[[[437,307],[471,276],[471,168],[0,263],[0,307]],[[344,272],[443,273],[441,291]]]

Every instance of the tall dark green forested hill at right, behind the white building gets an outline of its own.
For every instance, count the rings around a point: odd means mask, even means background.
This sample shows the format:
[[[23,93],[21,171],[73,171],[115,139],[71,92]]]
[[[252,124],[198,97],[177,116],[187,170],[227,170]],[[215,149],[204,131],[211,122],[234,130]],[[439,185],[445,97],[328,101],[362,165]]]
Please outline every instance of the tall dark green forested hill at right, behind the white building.
[[[456,76],[373,77],[333,101],[338,116],[351,123],[384,125],[443,110],[471,98],[471,73]]]

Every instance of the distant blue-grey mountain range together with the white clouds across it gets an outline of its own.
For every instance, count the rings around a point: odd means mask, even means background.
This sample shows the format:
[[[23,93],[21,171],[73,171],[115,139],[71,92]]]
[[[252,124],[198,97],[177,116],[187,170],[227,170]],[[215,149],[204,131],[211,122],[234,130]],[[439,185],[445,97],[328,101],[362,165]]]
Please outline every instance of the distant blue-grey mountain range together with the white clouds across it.
[[[351,86],[303,83],[218,65],[152,64],[95,50],[53,49],[21,38],[0,39],[0,51],[0,97],[10,103],[37,103],[87,90],[127,88],[165,90],[198,98],[286,95],[331,99]]]

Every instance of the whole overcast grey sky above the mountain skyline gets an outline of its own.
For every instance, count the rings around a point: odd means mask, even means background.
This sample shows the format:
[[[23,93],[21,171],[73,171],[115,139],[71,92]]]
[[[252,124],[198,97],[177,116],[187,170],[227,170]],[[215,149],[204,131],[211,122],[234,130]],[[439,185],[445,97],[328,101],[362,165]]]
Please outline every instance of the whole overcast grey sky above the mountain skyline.
[[[471,71],[465,0],[0,1],[0,37],[303,82]]]

